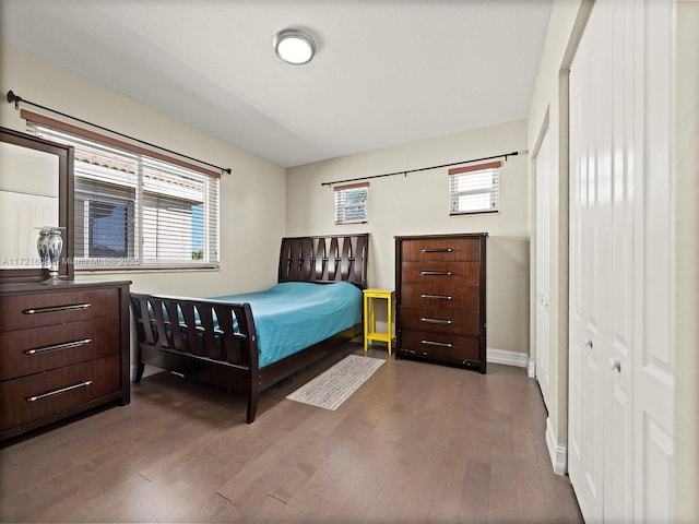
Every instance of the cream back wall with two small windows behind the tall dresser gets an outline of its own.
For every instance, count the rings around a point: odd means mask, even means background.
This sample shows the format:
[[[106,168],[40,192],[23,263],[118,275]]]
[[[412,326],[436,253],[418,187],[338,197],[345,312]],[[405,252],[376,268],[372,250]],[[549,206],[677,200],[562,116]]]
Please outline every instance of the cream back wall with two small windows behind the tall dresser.
[[[368,231],[369,286],[393,289],[394,236],[479,233],[487,242],[488,347],[529,350],[529,231],[525,154],[503,162],[500,213],[449,216],[448,168],[369,180],[368,224],[334,224],[333,190],[322,182],[524,151],[519,120],[287,169],[286,233]]]

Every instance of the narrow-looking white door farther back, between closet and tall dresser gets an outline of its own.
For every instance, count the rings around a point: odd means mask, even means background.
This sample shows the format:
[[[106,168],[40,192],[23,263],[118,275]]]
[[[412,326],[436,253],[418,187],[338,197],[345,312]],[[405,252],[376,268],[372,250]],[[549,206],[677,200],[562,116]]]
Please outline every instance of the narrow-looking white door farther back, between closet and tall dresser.
[[[546,408],[550,395],[550,146],[546,130],[536,155],[536,380]]]

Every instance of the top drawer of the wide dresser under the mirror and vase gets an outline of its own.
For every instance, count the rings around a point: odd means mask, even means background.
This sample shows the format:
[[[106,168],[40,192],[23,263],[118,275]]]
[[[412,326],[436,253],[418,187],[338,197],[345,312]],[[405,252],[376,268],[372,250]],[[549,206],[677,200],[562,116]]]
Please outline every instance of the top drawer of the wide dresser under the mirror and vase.
[[[88,289],[3,298],[0,331],[25,330],[119,314],[118,289]]]

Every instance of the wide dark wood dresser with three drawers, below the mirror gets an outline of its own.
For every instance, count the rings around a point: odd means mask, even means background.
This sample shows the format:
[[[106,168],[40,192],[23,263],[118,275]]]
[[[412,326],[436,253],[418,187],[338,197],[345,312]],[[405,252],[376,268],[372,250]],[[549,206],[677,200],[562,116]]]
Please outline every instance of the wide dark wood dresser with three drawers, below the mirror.
[[[0,440],[129,403],[129,285],[0,285]]]

